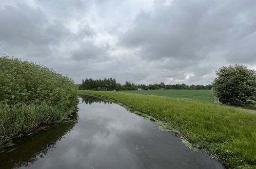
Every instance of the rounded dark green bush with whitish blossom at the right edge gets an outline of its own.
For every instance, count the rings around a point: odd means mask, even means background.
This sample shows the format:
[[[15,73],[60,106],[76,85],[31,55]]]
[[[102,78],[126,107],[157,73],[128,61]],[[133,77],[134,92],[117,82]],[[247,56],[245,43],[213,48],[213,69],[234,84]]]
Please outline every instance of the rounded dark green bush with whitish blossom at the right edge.
[[[212,83],[213,93],[220,102],[228,105],[246,106],[255,105],[256,101],[256,74],[254,70],[243,65],[222,67],[216,71]]]

